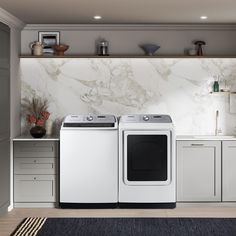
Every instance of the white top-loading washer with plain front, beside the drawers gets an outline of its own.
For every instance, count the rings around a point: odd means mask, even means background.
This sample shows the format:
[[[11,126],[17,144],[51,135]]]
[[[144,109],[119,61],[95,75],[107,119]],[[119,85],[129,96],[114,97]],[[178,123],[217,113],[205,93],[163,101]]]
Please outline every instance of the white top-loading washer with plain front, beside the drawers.
[[[117,143],[117,119],[112,115],[65,118],[60,130],[60,207],[117,206]]]

